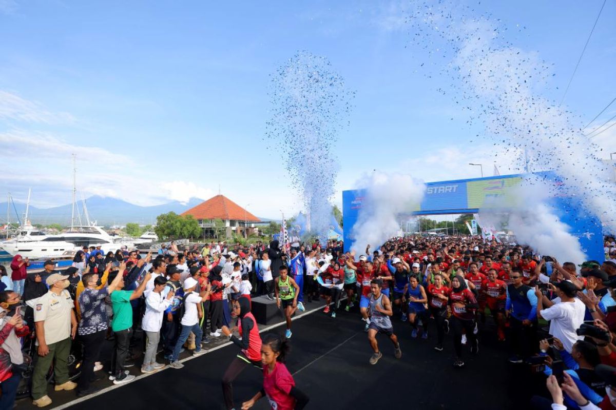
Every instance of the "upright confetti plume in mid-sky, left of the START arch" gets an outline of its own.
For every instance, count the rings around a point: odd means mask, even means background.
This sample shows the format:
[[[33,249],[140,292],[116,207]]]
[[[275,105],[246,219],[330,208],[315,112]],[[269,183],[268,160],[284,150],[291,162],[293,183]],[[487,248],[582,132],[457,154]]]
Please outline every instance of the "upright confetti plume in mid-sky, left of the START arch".
[[[302,51],[272,75],[272,117],[266,136],[282,150],[291,183],[301,195],[309,231],[328,232],[338,163],[334,147],[348,124],[354,93],[330,61]]]

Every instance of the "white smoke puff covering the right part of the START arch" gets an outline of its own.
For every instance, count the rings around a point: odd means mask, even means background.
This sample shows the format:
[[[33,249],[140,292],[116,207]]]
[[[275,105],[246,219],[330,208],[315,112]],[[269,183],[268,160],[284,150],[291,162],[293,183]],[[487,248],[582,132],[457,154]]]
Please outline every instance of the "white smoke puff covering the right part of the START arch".
[[[538,178],[525,178],[507,197],[486,204],[479,219],[486,226],[499,229],[503,223],[514,232],[517,242],[529,245],[541,255],[549,255],[562,262],[582,263],[586,260],[580,242],[570,234],[570,227],[561,222],[549,198],[553,186]],[[512,206],[513,205],[513,206]],[[502,210],[506,208],[504,213]]]

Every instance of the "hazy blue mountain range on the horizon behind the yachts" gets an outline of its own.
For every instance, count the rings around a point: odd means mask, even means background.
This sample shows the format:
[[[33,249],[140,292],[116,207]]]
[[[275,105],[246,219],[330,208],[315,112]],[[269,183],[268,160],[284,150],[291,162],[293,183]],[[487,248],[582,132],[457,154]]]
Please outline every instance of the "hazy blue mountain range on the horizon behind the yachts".
[[[153,224],[156,223],[156,216],[161,213],[167,213],[174,211],[175,213],[182,213],[192,207],[203,202],[203,199],[191,198],[188,203],[183,204],[178,201],[172,201],[164,203],[163,205],[153,205],[151,207],[140,207],[133,203],[126,202],[121,199],[100,197],[98,195],[89,197],[86,199],[87,212],[91,221],[97,221],[99,225],[123,225],[128,222],[134,222],[139,224]],[[0,202],[0,210],[6,210],[7,203]],[[25,203],[15,202],[10,205],[10,221],[17,221],[15,216],[15,209],[19,214],[19,218],[23,217],[23,213],[26,210]],[[76,211],[81,213],[82,221],[85,223],[83,216],[83,205],[81,201],[76,205]],[[30,205],[28,211],[29,218],[33,224],[52,224],[58,223],[62,225],[70,225],[71,223],[71,204],[62,205],[60,207],[53,208],[36,208]],[[4,219],[4,218],[2,218]]]

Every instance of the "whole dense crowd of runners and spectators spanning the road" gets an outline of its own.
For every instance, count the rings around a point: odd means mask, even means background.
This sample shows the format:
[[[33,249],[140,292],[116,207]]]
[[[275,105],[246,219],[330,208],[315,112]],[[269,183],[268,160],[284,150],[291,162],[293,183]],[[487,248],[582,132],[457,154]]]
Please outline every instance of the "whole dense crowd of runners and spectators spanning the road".
[[[606,261],[576,266],[527,246],[462,235],[393,238],[378,249],[362,246],[362,253],[318,240],[300,246],[212,242],[147,255],[93,248],[79,252],[63,272],[49,263],[28,274],[28,261],[16,256],[12,269],[26,278],[15,291],[0,292],[0,408],[15,401],[28,366],[22,354],[28,338],[36,341],[31,396],[42,407],[51,404],[52,364],[56,391],[86,396],[100,390],[91,382],[103,368],[114,384],[123,384],[134,379],[135,364],[141,373],[181,369],[181,352],[198,356],[227,337],[240,349],[222,375],[227,409],[235,408],[233,380],[251,367],[263,372],[264,382],[242,408],[266,396],[272,408],[301,409],[308,396],[284,361],[291,318],[317,301],[326,302],[323,313],[333,323],[336,315],[357,315],[358,331],[367,333],[367,365],[383,356],[379,334],[389,338],[398,360],[405,360],[403,348],[412,357],[413,343],[431,343],[437,354],[452,356],[454,368],[463,368],[466,352],[479,354],[492,337],[511,363],[549,376],[552,398],[534,397],[535,408],[612,408],[615,262],[611,238]],[[261,295],[285,313],[284,336],[259,334],[251,304]],[[394,326],[410,326],[416,341],[400,340]],[[115,343],[111,358],[101,357],[105,339]],[[75,350],[77,382],[68,363]]]

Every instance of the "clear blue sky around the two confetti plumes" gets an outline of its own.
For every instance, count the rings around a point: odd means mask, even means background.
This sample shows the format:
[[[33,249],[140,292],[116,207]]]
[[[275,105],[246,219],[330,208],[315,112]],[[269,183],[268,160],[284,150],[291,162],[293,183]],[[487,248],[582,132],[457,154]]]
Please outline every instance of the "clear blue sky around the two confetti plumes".
[[[554,63],[544,95],[559,101],[601,4],[484,1],[476,10]],[[437,92],[451,80],[417,71],[428,58],[410,44],[406,10],[400,1],[0,0],[2,191],[19,200],[32,187],[38,206],[70,202],[76,152],[86,197],[146,205],[220,186],[259,216],[299,211],[284,159],[263,140],[269,76],[298,50],[327,57],[356,92],[339,136],[339,190],[373,169],[434,181],[479,176],[468,163],[481,162],[492,175],[498,147],[469,143],[481,128]],[[608,1],[565,99],[582,125],[616,97],[614,21]],[[604,152],[616,151],[615,128],[595,139]],[[519,171],[505,156],[497,164]]]

